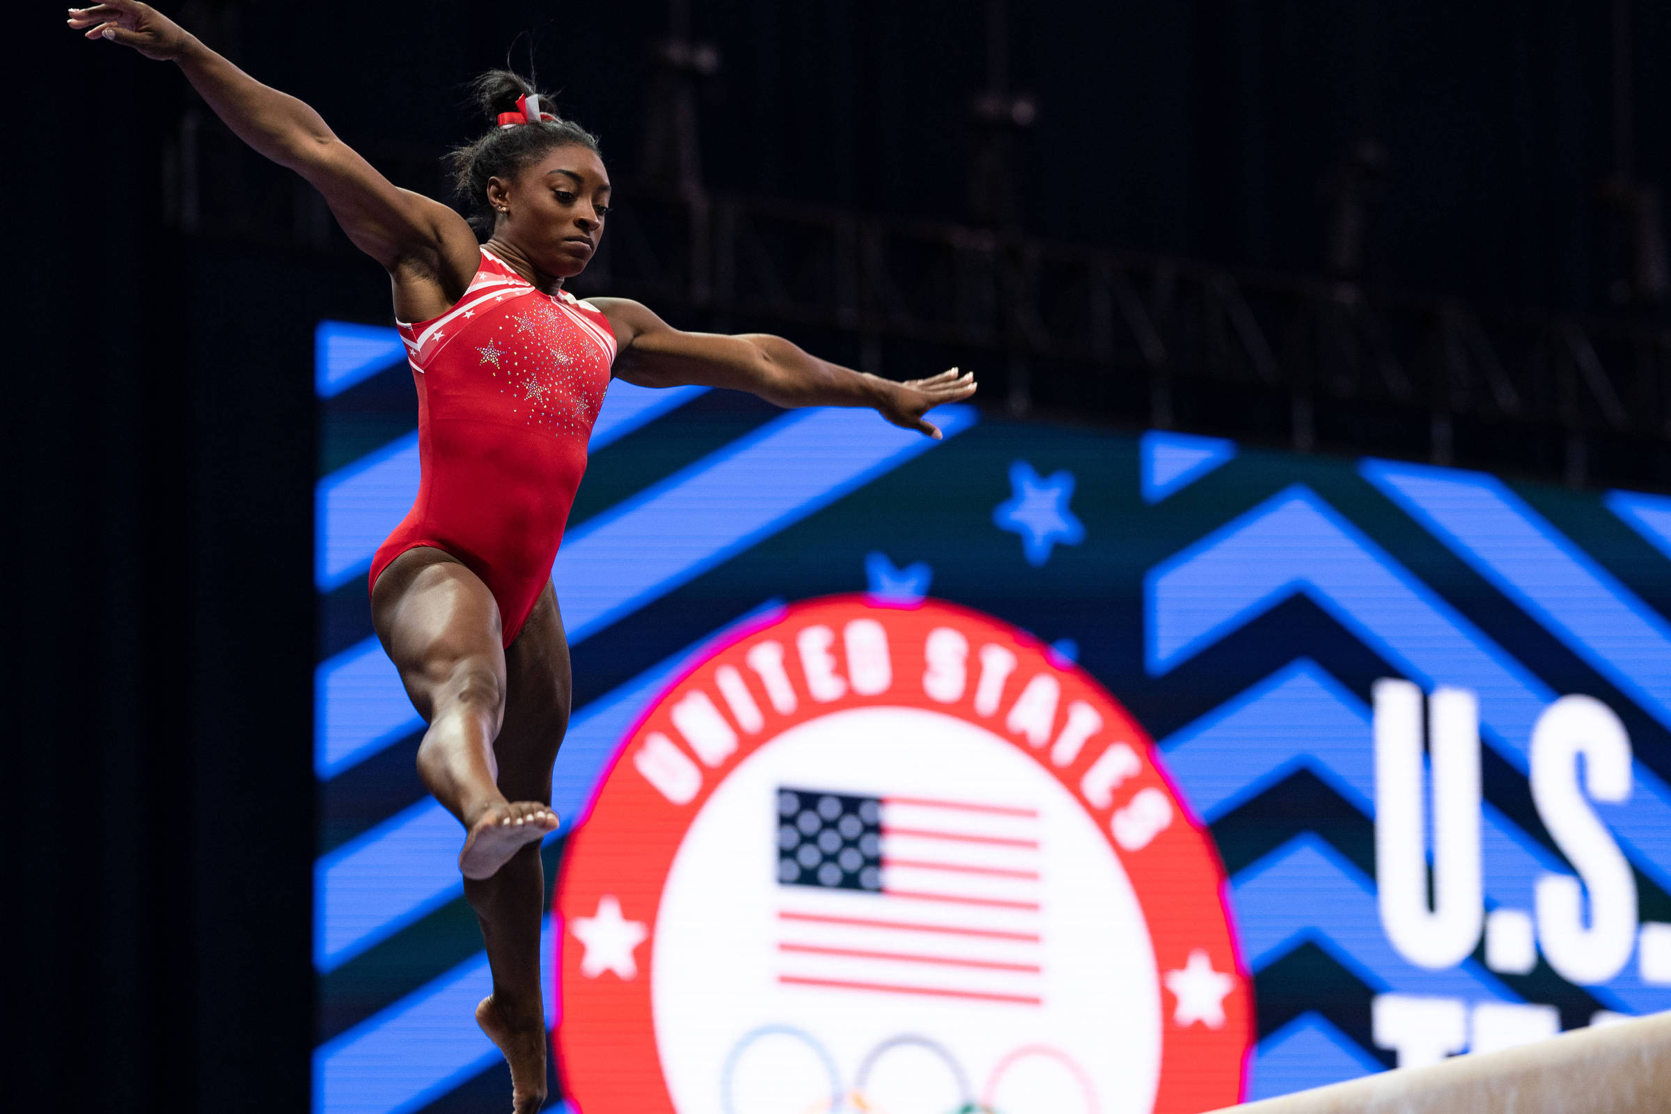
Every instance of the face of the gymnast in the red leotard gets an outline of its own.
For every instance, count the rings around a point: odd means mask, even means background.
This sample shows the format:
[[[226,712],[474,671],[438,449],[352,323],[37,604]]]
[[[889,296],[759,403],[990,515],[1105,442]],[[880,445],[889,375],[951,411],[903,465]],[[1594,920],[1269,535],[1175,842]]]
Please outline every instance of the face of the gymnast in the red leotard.
[[[546,152],[515,179],[488,179],[500,210],[493,234],[520,247],[541,272],[571,277],[587,269],[603,237],[610,175],[598,152],[571,144]]]

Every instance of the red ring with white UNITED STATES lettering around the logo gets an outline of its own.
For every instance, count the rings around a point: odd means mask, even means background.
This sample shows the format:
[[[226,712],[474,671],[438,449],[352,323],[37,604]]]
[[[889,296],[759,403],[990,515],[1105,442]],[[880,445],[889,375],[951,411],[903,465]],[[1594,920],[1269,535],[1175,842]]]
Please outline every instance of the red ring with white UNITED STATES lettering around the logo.
[[[809,698],[804,681],[797,683],[797,708],[780,715],[744,663],[747,651],[764,641],[779,641],[789,676],[804,678],[795,630],[827,625],[842,628],[854,618],[876,618],[887,631],[892,660],[892,685],[872,696],[847,693],[830,700]],[[952,703],[931,700],[922,693],[922,643],[937,626],[951,626],[969,640],[971,673],[979,641],[996,641],[1011,650],[1018,661],[1009,673],[999,711],[983,717],[974,711],[976,685]],[[832,648],[841,658],[841,648]],[[633,768],[632,757],[652,733],[680,738],[672,723],[672,705],[685,693],[703,688],[719,708],[714,675],[730,665],[749,678],[750,691],[765,718],[757,733],[737,732],[739,747],[714,767],[705,767],[682,748],[700,770],[700,788],[683,803],[673,803]],[[1103,727],[1064,767],[1049,762],[1049,747],[1033,748],[1003,730],[1003,710],[1034,675],[1053,673],[1061,685],[1056,705],[1059,730],[1074,700],[1084,700],[1103,715]],[[1170,775],[1156,762],[1155,745],[1136,720],[1095,678],[1049,653],[1036,638],[981,611],[927,600],[902,608],[881,605],[864,595],[824,596],[787,608],[745,626],[732,638],[710,646],[695,665],[673,680],[628,732],[607,772],[600,778],[590,813],[568,837],[561,872],[553,894],[553,929],[556,965],[558,1024],[553,1027],[553,1052],[561,1072],[565,1094],[583,1114],[675,1114],[662,1077],[652,1007],[652,949],[662,889],[672,868],[685,830],[707,803],[720,782],[762,743],[784,730],[814,718],[864,706],[922,706],[956,715],[1011,738],[1018,750],[1033,757],[1056,777],[1074,800],[1098,820],[1103,837],[1131,879],[1150,940],[1156,972],[1188,965],[1191,952],[1206,952],[1213,969],[1230,972],[1235,985],[1223,1000],[1225,1024],[1213,1029],[1203,1022],[1178,1025],[1168,1005],[1173,997],[1161,990],[1161,1064],[1153,1114],[1195,1114],[1233,1106],[1242,1099],[1245,1064],[1253,1047],[1252,979],[1232,927],[1228,879],[1206,827],[1183,800]],[[1128,743],[1141,760],[1141,770],[1120,782],[1106,808],[1086,800],[1081,780],[1096,758],[1111,745]],[[1171,802],[1176,820],[1140,850],[1123,850],[1110,835],[1110,820],[1126,802],[1145,788],[1160,788]],[[620,979],[603,972],[588,979],[580,972],[583,949],[566,932],[565,917],[592,915],[598,895],[615,895],[627,919],[642,920],[648,937],[635,950],[637,977]],[[575,905],[575,902],[580,902]],[[623,1062],[630,1057],[630,1062]]]

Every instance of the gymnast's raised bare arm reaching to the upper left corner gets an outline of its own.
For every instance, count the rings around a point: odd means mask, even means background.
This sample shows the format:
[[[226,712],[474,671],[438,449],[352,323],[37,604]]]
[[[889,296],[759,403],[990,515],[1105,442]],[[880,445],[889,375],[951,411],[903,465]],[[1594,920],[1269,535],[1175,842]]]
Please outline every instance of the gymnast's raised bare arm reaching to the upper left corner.
[[[394,276],[396,312],[403,319],[444,312],[463,294],[480,266],[476,235],[465,219],[429,197],[396,187],[306,104],[262,85],[150,5],[109,0],[72,8],[69,23],[85,30],[87,38],[177,63],[239,139],[307,179],[324,194],[354,246]]]

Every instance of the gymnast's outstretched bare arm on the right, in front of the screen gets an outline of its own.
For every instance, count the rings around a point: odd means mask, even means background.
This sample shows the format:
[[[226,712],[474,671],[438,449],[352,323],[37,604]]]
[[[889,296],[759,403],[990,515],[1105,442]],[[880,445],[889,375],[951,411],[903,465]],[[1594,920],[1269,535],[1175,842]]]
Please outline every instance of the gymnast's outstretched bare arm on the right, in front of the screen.
[[[974,376],[957,369],[894,382],[819,359],[764,332],[683,332],[625,297],[588,299],[610,319],[620,354],[615,374],[642,387],[702,384],[749,391],[777,406],[869,406],[887,421],[939,439],[922,418],[941,403],[974,394]]]

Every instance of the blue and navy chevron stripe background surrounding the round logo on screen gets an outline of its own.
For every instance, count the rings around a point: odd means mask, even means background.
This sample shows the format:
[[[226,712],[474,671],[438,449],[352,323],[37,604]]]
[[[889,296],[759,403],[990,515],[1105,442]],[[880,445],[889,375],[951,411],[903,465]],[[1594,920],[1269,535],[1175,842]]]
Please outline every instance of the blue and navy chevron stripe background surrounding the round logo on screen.
[[[319,1114],[439,1114],[503,1074],[471,1020],[488,974],[453,865],[458,825],[416,783],[421,722],[364,618],[371,553],[416,489],[391,337],[326,322],[316,349],[328,414],[374,409],[368,392],[389,399],[386,433],[328,453],[316,491]],[[1064,648],[1161,740],[1230,867],[1270,1017],[1248,1097],[1389,1066],[1369,1037],[1375,994],[1554,1002],[1567,1025],[1671,1009],[1671,987],[1638,962],[1592,987],[1547,967],[1492,972],[1484,950],[1445,970],[1412,965],[1382,929],[1367,853],[1370,685],[1462,686],[1487,752],[1486,905],[1532,909],[1539,879],[1569,867],[1526,793],[1531,727],[1556,696],[1589,693],[1626,718],[1636,753],[1631,798],[1597,815],[1638,870],[1644,910],[1671,909],[1671,620],[1653,591],[1671,571],[1671,499],[1577,496],[1574,511],[1564,496],[1551,509],[1479,473],[983,424],[968,408],[937,414],[947,441],[932,446],[861,411],[779,414],[722,394],[617,382],[607,396],[582,491],[605,494],[553,570],[580,688],[553,775],[563,828],[548,872],[620,737],[715,631],[827,591],[909,606],[916,593],[894,581],[916,578],[921,593],[932,571],[936,595]],[[1016,461],[1061,478],[1083,523],[1083,541],[1048,561],[1029,561],[998,521]],[[1608,548],[1584,514],[1634,549]],[[1547,638],[1524,638],[1527,623]]]

